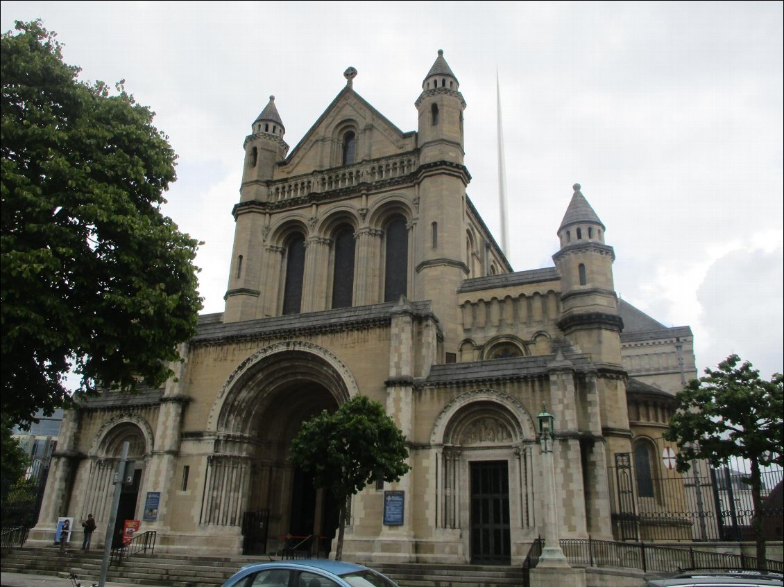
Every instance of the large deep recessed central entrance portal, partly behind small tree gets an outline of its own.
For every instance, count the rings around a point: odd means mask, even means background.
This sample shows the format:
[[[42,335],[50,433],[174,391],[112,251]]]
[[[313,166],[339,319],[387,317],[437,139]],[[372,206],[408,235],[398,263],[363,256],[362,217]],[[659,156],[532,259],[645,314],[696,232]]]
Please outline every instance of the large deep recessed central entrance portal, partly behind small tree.
[[[337,528],[336,503],[289,462],[289,446],[303,421],[357,393],[343,362],[315,344],[278,343],[245,360],[209,418],[216,442],[201,524],[243,526],[248,554],[276,549],[281,536],[301,536],[303,547],[323,537],[324,550]],[[265,520],[265,535],[249,536],[251,518]]]

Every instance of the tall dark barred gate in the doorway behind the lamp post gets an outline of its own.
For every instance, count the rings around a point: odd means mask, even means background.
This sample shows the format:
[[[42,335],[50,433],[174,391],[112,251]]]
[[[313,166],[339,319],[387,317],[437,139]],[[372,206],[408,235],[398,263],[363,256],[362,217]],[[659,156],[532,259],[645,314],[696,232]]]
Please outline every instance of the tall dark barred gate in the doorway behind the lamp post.
[[[510,564],[506,461],[470,463],[471,563]]]

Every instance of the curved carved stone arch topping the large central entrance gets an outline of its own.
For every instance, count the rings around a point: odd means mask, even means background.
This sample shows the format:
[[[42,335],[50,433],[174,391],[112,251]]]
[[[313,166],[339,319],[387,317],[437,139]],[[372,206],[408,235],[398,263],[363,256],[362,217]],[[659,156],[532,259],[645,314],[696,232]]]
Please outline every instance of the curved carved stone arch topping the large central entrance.
[[[274,373],[273,373],[274,372]],[[256,351],[228,376],[207,420],[207,430],[256,434],[256,416],[279,386],[299,380],[324,385],[338,404],[359,393],[350,369],[331,351],[303,340],[287,340]]]

